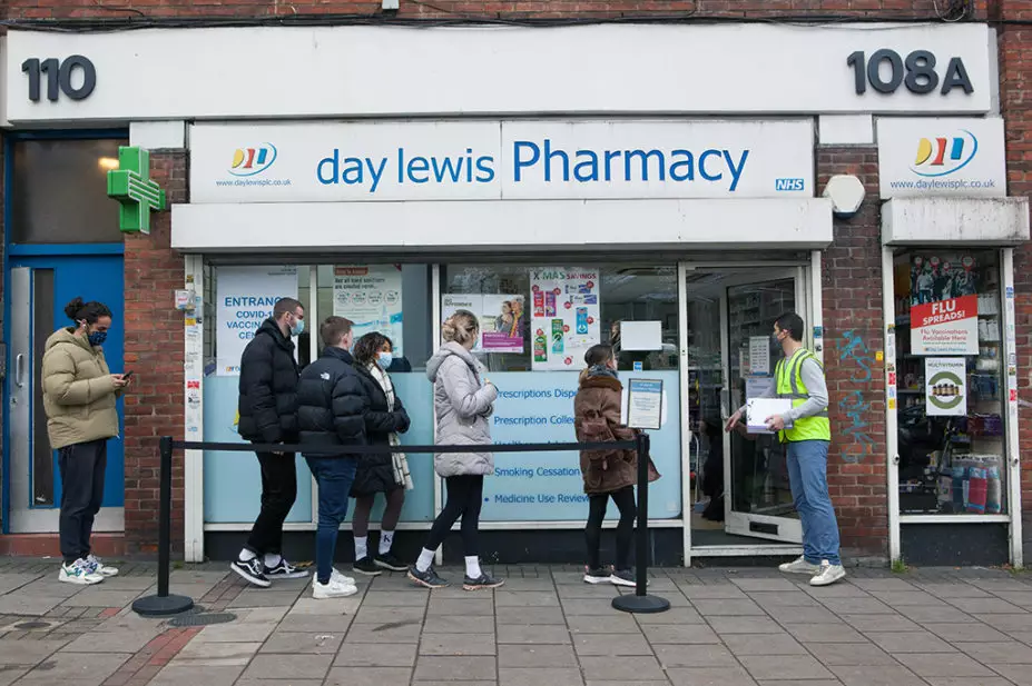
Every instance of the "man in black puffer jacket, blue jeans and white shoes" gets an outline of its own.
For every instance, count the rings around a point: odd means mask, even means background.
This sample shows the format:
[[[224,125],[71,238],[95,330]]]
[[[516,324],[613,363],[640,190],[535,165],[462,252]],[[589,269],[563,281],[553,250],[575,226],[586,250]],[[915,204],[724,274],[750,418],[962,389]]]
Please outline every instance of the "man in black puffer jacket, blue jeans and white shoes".
[[[364,446],[368,397],[347,351],[352,322],[328,317],[320,327],[323,352],[308,365],[297,385],[297,421],[304,456],[318,484],[318,528],[315,534],[316,575],[312,595],[318,600],[358,593],[355,580],[333,569],[341,523],[358,460],[354,455],[320,456],[318,446]],[[308,453],[309,446],[313,453]]]

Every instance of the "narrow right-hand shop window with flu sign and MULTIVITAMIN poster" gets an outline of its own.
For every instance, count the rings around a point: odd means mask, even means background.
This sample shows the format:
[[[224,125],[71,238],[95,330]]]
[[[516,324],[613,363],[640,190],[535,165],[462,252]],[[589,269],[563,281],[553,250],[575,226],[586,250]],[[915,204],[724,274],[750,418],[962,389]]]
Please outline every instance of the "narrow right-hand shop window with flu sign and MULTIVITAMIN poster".
[[[900,252],[894,290],[900,510],[1005,513],[999,253]]]

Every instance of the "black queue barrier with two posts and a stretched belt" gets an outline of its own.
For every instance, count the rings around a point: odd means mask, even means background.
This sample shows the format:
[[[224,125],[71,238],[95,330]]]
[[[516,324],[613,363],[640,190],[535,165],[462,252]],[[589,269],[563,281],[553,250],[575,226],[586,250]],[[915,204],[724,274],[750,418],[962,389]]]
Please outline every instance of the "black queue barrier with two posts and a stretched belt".
[[[616,609],[627,613],[661,613],[670,603],[659,596],[648,595],[649,563],[649,437],[639,434],[635,440],[609,443],[535,443],[535,444],[473,444],[466,446],[344,446],[322,444],[244,444],[214,443],[205,440],[175,440],[163,436],[158,443],[160,453],[160,491],[158,510],[158,593],[138,598],[132,609],[147,617],[164,617],[187,612],[194,607],[193,598],[169,594],[169,566],[171,551],[171,463],[176,450],[212,450],[224,453],[284,453],[324,457],[347,457],[352,455],[385,455],[392,453],[448,455],[456,453],[573,453],[592,450],[635,450],[638,455],[638,531],[636,544],[637,576],[633,595],[617,596],[612,600]]]

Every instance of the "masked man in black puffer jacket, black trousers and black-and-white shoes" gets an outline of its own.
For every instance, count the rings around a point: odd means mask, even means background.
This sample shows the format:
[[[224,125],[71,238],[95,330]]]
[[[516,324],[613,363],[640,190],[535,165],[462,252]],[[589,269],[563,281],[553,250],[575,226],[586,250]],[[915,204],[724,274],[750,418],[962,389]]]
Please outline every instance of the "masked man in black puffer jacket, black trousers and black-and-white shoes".
[[[297,362],[292,336],[305,327],[305,308],[278,300],[240,357],[239,434],[256,444],[297,443]],[[262,466],[262,510],[236,561],[238,575],[263,588],[269,579],[308,576],[283,558],[283,523],[297,497],[293,453],[257,453]]]

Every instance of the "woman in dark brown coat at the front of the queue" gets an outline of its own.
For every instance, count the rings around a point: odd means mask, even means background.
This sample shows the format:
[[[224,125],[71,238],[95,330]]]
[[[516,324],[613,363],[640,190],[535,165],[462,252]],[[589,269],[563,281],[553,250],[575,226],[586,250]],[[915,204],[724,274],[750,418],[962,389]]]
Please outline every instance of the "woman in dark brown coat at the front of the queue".
[[[633,440],[635,429],[620,422],[620,402],[623,386],[617,378],[617,360],[610,346],[593,346],[584,355],[586,369],[580,375],[580,389],[573,399],[577,440],[603,443]],[[617,584],[633,586],[635,573],[630,567],[630,547],[635,533],[635,484],[638,457],[633,450],[584,450],[580,454],[580,470],[584,477],[589,514],[584,538],[588,541],[588,584]],[[609,498],[620,509],[617,526],[617,564],[613,570],[599,561],[602,520]]]

